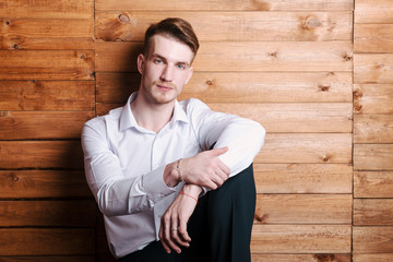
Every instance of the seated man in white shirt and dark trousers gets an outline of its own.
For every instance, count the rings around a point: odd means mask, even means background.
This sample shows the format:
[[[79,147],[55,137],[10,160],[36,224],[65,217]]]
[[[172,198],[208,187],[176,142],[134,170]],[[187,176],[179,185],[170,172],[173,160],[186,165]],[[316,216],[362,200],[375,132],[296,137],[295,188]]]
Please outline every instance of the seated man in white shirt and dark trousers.
[[[251,164],[265,131],[177,100],[198,48],[181,19],[150,26],[139,92],[84,126],[86,179],[119,261],[250,261]]]

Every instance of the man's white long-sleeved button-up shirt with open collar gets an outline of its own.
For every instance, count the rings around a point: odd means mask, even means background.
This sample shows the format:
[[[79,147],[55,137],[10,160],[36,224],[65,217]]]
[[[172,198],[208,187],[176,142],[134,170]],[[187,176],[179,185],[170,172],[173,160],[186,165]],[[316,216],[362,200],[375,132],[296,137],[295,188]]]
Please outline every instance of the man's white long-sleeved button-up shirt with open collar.
[[[138,126],[130,103],[96,117],[82,131],[85,174],[104,214],[109,249],[121,258],[158,240],[160,216],[182,188],[168,188],[165,166],[199,152],[228,146],[219,158],[234,176],[263,145],[258,122],[214,112],[198,99],[176,102],[171,120],[158,132]]]

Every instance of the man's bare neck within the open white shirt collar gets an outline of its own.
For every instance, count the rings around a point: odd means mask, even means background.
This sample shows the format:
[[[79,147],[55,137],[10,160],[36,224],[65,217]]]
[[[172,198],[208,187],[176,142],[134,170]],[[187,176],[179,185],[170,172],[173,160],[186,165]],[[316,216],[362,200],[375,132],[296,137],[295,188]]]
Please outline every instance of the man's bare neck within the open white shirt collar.
[[[175,100],[167,104],[146,103],[143,95],[138,94],[131,102],[131,111],[138,124],[144,129],[158,133],[171,119]]]

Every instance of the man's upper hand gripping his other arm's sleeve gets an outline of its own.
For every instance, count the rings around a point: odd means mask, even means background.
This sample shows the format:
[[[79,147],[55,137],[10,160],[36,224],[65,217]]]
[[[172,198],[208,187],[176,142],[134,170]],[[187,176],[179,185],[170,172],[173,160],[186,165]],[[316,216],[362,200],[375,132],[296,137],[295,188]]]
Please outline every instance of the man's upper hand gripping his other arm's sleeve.
[[[218,156],[228,147],[201,152],[181,160],[181,174],[186,183],[198,184],[212,190],[219,188],[229,177],[230,169]]]

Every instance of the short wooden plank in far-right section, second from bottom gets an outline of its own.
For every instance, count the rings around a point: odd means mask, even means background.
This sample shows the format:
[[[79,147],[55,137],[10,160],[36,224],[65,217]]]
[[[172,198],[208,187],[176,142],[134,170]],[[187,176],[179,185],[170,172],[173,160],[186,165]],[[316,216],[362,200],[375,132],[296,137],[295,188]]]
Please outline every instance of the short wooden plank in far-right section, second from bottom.
[[[392,226],[354,226],[353,252],[390,253],[393,250]]]

